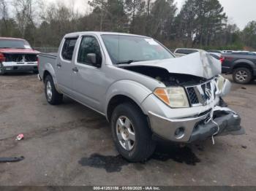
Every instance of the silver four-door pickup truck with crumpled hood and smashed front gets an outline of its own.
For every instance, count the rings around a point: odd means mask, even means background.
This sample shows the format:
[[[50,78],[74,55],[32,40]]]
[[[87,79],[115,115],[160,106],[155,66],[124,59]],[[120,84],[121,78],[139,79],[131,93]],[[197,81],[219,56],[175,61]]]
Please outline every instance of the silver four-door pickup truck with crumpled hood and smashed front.
[[[67,34],[59,52],[39,55],[39,79],[49,104],[63,95],[105,115],[118,152],[146,160],[156,141],[186,144],[243,134],[241,118],[222,100],[230,82],[207,52],[175,58],[146,36]]]

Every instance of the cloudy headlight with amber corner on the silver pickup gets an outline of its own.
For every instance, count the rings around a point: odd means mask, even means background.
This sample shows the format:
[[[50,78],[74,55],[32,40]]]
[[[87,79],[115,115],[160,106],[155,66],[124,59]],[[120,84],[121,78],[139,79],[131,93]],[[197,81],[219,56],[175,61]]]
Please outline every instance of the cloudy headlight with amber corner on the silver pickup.
[[[187,94],[183,87],[166,87],[154,90],[154,95],[172,108],[189,107]]]

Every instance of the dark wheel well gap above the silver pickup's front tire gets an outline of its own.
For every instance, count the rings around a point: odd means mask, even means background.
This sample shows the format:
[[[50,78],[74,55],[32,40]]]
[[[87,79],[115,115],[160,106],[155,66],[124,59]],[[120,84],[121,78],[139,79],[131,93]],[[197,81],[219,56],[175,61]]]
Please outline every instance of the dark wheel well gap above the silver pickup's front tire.
[[[127,103],[127,102],[132,103],[135,106],[137,106],[138,109],[140,109],[140,111],[143,113],[140,106],[138,106],[138,104],[135,101],[133,101],[132,98],[129,98],[126,95],[115,95],[115,96],[113,96],[113,98],[110,99],[110,101],[108,103],[108,109],[107,109],[107,119],[108,119],[108,121],[111,120],[111,116],[112,116],[113,111],[116,108],[116,106],[118,106],[119,104]]]

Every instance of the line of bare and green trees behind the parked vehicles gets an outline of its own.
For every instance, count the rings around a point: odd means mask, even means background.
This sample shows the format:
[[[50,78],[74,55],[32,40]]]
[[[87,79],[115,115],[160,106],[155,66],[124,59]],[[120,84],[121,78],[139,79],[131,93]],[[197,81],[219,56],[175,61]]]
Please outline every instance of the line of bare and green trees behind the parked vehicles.
[[[187,0],[179,11],[174,0],[91,0],[83,14],[74,4],[0,0],[0,36],[58,47],[69,32],[115,31],[151,36],[170,48],[256,49],[256,21],[243,30],[228,23],[219,0]]]

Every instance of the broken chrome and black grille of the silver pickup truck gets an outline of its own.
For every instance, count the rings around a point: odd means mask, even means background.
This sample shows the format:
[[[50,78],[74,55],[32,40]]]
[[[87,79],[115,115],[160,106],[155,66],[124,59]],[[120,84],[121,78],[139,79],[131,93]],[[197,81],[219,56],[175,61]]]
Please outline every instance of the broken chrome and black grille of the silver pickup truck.
[[[214,80],[201,85],[186,87],[189,102],[192,106],[206,105],[211,99],[215,99],[216,87]]]

